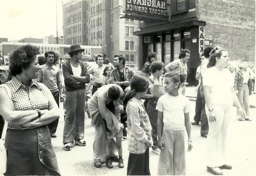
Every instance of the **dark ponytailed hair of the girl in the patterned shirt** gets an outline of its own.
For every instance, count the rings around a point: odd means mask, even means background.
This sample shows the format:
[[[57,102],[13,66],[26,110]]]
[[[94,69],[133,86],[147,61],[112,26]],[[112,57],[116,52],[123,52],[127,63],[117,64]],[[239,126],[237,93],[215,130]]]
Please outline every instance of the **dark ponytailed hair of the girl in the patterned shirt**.
[[[128,101],[131,100],[137,92],[144,92],[149,88],[149,80],[142,75],[134,75],[130,83],[131,90],[126,94],[123,100],[123,105],[127,105]]]

